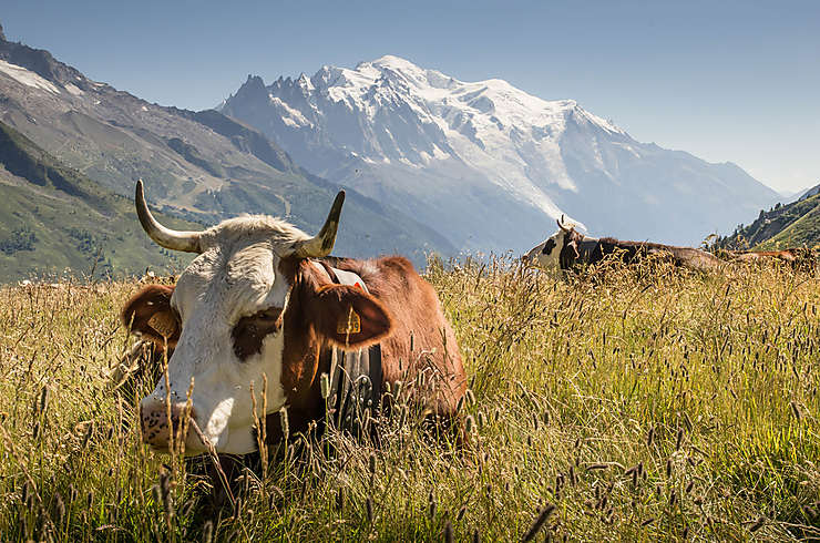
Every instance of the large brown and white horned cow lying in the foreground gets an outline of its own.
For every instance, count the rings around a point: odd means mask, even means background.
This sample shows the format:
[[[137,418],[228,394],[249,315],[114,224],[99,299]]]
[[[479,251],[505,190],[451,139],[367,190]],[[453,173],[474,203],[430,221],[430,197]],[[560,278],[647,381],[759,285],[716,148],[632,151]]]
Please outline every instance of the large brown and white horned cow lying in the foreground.
[[[435,391],[416,400],[444,418],[455,414],[467,388],[458,344],[435,291],[410,262],[398,256],[335,260],[337,269],[363,280],[365,291],[335,284],[331,268],[318,260],[332,249],[344,197],[342,191],[315,237],[262,215],[227,219],[204,232],[176,232],[154,219],[137,182],[137,216],[148,236],[163,247],[198,254],[175,287],[145,287],[123,310],[133,331],[174,347],[168,390],[163,377],[140,402],[145,442],[167,449],[168,429],[183,414],[193,382],[191,417],[204,438],[221,453],[253,452],[252,383],[262,406],[267,379],[265,414],[287,407],[290,432],[304,430],[325,414],[320,376],[329,371],[331,347],[350,351],[377,342],[383,383],[432,370]],[[356,329],[340,326],[353,315]],[[268,426],[271,441],[281,438],[277,432],[278,424]],[[188,432],[185,450],[207,449]]]

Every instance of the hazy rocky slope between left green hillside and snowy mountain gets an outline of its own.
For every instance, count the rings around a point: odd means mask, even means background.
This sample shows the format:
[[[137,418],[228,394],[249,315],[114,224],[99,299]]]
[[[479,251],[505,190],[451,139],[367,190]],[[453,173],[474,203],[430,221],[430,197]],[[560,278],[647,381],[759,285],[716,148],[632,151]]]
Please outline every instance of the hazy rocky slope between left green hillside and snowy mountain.
[[[2,37],[0,121],[96,186],[131,197],[142,177],[152,206],[202,224],[265,213],[314,232],[338,191],[219,112],[147,103]],[[428,252],[455,250],[429,226],[349,188],[338,254],[398,252],[422,264]]]

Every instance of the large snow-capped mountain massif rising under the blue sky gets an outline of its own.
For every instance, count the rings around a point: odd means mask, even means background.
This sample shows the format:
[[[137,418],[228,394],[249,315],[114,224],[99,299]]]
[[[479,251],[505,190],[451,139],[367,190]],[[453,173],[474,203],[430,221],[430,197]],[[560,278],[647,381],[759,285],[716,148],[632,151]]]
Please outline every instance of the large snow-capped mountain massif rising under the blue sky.
[[[573,100],[390,55],[267,86],[248,76],[219,109],[465,248],[521,250],[562,213],[593,234],[697,243],[778,197],[734,164],[639,143]]]

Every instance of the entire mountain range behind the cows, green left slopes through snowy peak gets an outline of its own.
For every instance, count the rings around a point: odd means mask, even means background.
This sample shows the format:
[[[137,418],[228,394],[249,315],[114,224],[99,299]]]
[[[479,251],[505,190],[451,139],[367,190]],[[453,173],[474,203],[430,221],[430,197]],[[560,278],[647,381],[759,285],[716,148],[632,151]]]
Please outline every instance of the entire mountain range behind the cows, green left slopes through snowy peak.
[[[639,143],[575,101],[390,55],[269,85],[249,75],[195,112],[93,81],[0,27],[0,281],[184,266],[136,228],[136,178],[186,228],[265,213],[314,232],[344,187],[336,253],[419,265],[520,253],[562,214],[591,234],[693,244],[778,199],[734,164]]]

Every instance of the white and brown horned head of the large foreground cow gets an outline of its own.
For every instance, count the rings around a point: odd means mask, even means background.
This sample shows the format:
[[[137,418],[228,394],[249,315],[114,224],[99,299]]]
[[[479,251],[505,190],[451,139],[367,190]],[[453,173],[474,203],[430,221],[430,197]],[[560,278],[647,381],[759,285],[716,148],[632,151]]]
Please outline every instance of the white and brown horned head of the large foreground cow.
[[[163,247],[198,253],[174,288],[146,287],[123,313],[132,330],[174,347],[170,386],[163,376],[141,401],[148,444],[167,449],[168,429],[184,417],[193,382],[191,417],[204,437],[219,452],[252,452],[257,447],[252,383],[256,414],[264,418],[263,376],[267,413],[275,412],[319,379],[319,348],[358,349],[389,334],[390,317],[376,298],[330,284],[310,260],[332,249],[344,199],[339,192],[315,237],[268,216],[177,232],[151,215],[137,182],[137,216],[148,236]],[[355,330],[341,326],[356,317]],[[206,450],[196,432],[185,437],[185,448]]]

